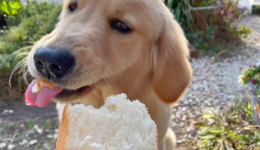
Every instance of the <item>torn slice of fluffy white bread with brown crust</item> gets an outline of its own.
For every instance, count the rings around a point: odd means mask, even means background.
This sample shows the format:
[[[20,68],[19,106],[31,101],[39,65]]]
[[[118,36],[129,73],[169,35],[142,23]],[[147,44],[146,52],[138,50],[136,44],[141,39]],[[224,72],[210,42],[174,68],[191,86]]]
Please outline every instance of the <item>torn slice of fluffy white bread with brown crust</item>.
[[[107,97],[99,109],[69,104],[63,110],[56,149],[157,149],[156,124],[143,103],[123,93]]]

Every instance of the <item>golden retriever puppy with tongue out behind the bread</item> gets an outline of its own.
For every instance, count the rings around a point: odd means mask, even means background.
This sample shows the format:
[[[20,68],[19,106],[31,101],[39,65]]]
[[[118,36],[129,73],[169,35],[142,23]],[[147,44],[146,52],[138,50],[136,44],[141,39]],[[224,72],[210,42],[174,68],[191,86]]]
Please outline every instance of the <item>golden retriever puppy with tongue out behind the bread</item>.
[[[183,31],[162,0],[65,0],[55,29],[36,42],[27,65],[33,77],[58,86],[37,97],[39,106],[54,98],[60,112],[72,101],[100,107],[122,92],[139,99],[164,150],[175,143],[171,104],[191,80],[188,55]]]

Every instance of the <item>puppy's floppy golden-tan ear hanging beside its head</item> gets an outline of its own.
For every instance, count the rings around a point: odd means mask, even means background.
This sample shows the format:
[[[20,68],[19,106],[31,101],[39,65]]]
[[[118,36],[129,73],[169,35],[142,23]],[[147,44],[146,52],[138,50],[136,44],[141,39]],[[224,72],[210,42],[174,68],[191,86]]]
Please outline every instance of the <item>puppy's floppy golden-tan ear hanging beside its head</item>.
[[[166,103],[176,101],[191,81],[188,42],[180,25],[165,16],[153,50],[152,87]],[[155,51],[154,51],[155,50]]]

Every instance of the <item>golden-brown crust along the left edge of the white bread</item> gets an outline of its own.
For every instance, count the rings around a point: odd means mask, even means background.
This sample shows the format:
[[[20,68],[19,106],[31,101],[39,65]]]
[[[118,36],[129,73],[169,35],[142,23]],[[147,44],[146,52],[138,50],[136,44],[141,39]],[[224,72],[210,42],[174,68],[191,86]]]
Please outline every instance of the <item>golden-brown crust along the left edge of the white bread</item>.
[[[56,141],[56,150],[64,150],[66,148],[68,135],[68,105],[64,106],[62,120],[58,126],[58,138]]]

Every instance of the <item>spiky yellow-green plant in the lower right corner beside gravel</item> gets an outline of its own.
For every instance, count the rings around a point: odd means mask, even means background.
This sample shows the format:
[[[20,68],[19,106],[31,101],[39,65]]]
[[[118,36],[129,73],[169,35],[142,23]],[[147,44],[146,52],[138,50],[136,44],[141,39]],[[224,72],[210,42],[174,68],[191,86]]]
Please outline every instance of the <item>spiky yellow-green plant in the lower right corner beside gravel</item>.
[[[222,111],[206,111],[198,131],[202,149],[253,149],[260,145],[260,126],[252,124],[247,98],[236,99]]]

